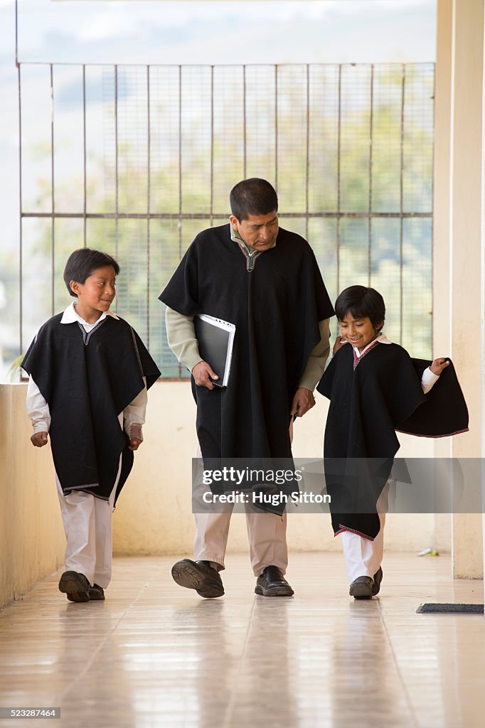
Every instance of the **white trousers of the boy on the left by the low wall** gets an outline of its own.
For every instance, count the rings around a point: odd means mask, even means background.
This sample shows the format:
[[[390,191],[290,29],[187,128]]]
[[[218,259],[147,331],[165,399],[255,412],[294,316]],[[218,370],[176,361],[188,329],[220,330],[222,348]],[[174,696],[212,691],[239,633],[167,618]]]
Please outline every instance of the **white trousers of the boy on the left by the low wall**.
[[[111,516],[120,473],[121,456],[117,479],[107,501],[84,491],[71,491],[65,496],[55,476],[67,539],[66,571],[84,574],[91,585],[98,584],[103,589],[111,581]]]

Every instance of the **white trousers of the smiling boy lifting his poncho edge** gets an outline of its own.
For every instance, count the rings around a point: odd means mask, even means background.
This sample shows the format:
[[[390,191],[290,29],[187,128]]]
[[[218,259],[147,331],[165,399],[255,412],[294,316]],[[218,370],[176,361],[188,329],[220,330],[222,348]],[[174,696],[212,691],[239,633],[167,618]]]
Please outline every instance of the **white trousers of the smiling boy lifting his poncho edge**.
[[[386,483],[377,501],[377,512],[381,527],[374,541],[363,536],[342,531],[342,550],[344,552],[345,569],[350,584],[357,577],[374,577],[379,569],[384,555],[384,526],[387,512],[387,496],[389,494],[389,483]]]

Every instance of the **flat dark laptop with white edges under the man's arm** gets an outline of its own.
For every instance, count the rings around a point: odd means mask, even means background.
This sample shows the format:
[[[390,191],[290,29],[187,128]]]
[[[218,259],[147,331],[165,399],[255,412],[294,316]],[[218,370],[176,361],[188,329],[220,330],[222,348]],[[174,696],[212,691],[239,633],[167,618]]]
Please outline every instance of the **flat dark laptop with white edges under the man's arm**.
[[[231,371],[232,345],[236,327],[229,321],[200,314],[194,316],[195,336],[199,344],[200,356],[218,375],[213,381],[216,387],[227,387]]]

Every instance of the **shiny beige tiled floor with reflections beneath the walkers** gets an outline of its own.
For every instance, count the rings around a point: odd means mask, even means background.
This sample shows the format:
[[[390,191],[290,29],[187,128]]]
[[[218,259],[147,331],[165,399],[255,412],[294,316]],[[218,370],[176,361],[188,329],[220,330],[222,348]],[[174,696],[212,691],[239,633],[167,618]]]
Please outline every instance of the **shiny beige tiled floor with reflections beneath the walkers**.
[[[347,595],[339,554],[293,554],[293,598],[254,596],[245,555],[212,601],[172,582],[172,563],[117,558],[106,602],[89,604],[53,575],[0,612],[0,707],[62,711],[0,728],[484,726],[484,617],[416,614],[483,602],[449,557],[387,554],[371,602]]]

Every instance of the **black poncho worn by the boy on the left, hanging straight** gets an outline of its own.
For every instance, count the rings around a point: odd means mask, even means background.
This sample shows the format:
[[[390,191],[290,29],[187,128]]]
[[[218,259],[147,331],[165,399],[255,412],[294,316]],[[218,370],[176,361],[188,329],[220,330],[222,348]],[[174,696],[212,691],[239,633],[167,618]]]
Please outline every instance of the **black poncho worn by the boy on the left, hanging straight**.
[[[50,409],[50,442],[63,493],[87,491],[108,500],[122,454],[121,491],[133,452],[118,416],[160,376],[138,334],[123,319],[106,316],[89,333],[52,317],[28,348],[22,368]]]

